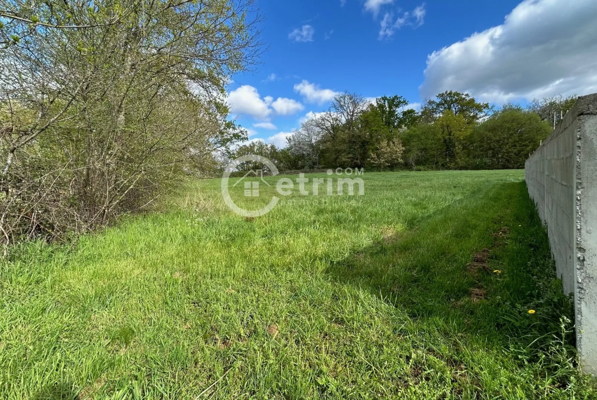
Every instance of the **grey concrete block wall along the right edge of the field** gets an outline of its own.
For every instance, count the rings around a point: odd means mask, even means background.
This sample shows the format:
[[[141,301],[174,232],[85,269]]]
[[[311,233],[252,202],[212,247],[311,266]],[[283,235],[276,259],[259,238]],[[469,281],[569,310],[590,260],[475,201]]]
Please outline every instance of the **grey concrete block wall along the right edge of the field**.
[[[525,178],[558,277],[574,293],[583,370],[597,375],[597,94],[578,99],[527,160]]]

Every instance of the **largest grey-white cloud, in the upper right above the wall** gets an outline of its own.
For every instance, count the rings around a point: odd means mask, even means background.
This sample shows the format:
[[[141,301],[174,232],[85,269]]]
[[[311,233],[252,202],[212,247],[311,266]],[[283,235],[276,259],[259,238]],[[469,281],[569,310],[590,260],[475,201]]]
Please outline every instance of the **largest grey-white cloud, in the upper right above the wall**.
[[[506,103],[596,92],[595,21],[595,0],[525,0],[500,26],[429,55],[421,97],[457,90]]]

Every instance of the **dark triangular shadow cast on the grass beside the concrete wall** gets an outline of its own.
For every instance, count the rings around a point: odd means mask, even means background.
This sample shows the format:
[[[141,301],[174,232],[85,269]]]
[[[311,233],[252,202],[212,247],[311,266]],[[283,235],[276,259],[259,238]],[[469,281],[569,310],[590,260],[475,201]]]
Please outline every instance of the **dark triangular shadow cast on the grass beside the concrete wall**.
[[[476,193],[327,272],[368,288],[417,323],[433,321],[427,328],[504,346],[545,346],[561,330],[560,318],[574,316],[524,182]],[[567,343],[574,344],[572,333]]]

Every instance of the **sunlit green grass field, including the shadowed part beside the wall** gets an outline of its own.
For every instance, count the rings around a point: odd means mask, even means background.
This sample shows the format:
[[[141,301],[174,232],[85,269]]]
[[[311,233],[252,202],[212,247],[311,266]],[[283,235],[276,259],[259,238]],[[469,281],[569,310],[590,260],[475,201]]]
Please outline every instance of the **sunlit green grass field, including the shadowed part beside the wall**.
[[[0,264],[0,398],[596,398],[523,175],[365,173],[365,196],[257,219],[203,180],[22,246]]]

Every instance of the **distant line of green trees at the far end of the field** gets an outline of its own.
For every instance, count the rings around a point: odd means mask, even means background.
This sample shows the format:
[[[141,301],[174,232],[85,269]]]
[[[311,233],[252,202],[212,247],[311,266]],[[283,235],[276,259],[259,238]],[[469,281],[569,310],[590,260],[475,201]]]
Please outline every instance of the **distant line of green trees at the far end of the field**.
[[[371,103],[345,92],[302,123],[285,148],[256,141],[233,155],[258,154],[283,170],[518,169],[575,101],[552,97],[495,108],[447,91],[417,111],[398,95]]]

